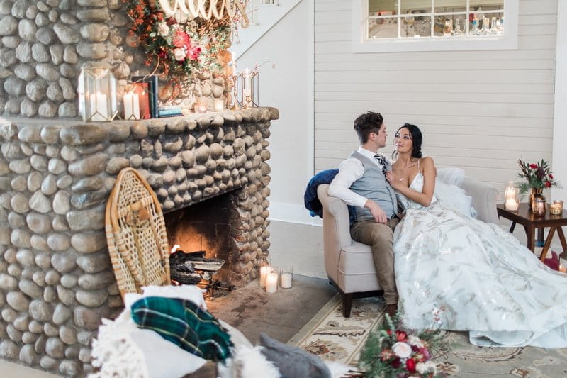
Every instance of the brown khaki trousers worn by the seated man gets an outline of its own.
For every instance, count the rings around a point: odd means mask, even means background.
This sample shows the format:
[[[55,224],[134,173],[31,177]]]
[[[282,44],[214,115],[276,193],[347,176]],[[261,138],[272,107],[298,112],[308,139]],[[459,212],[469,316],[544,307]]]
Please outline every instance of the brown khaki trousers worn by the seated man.
[[[371,245],[378,282],[384,291],[386,304],[398,304],[394,276],[393,229],[399,221],[398,218],[393,218],[388,220],[386,225],[370,219],[355,222],[350,228],[354,240]]]

